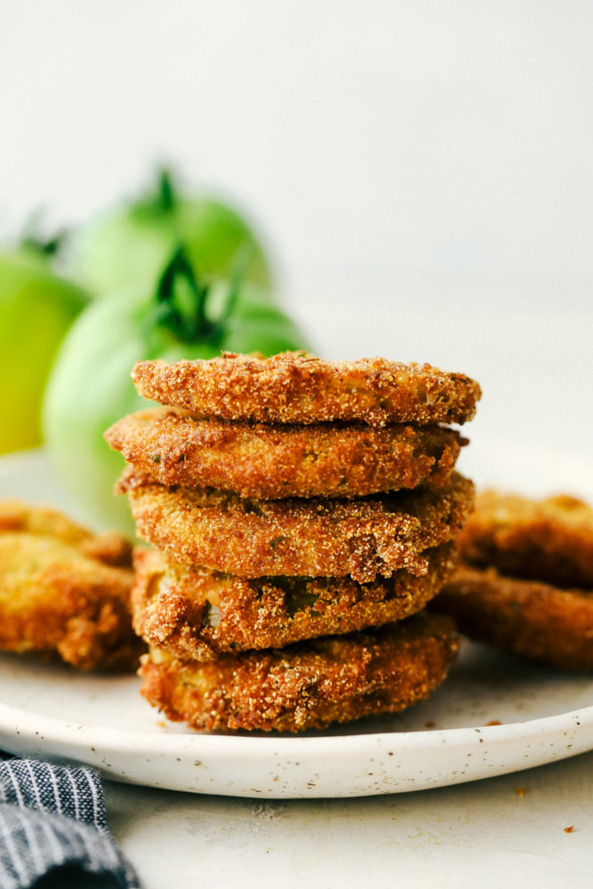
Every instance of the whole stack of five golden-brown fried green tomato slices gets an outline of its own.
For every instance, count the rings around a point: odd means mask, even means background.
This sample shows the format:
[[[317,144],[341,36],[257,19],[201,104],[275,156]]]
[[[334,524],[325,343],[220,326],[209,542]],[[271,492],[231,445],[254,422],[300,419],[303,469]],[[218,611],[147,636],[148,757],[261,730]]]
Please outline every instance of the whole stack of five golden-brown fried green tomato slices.
[[[301,732],[397,712],[459,643],[427,614],[472,509],[460,373],[305,352],[141,361],[128,466],[143,694],[195,729]]]

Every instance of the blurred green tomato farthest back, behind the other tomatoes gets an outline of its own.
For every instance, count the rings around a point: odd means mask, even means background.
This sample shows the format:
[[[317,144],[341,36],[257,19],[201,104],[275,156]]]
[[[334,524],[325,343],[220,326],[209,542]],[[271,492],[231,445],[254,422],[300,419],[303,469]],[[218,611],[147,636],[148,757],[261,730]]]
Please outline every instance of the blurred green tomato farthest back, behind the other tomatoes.
[[[154,195],[107,212],[83,229],[74,271],[98,296],[139,282],[150,286],[180,241],[206,279],[228,278],[237,251],[248,249],[244,280],[270,288],[268,261],[247,221],[219,200],[178,195],[166,172]]]

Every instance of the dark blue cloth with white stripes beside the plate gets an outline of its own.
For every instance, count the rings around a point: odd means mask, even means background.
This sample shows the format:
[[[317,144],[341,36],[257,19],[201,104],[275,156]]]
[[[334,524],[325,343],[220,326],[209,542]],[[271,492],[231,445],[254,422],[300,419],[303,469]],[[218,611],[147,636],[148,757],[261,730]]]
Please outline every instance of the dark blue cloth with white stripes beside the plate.
[[[8,759],[0,762],[0,886],[26,889],[45,875],[55,882],[44,886],[140,886],[107,829],[96,772]]]

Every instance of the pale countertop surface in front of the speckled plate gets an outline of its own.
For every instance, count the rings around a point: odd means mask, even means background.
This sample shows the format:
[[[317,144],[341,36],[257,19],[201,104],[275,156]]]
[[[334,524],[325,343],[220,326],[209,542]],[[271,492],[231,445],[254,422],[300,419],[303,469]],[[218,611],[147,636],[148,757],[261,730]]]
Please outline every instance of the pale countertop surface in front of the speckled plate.
[[[591,885],[593,753],[384,797],[267,801],[110,782],[106,793],[144,889]]]

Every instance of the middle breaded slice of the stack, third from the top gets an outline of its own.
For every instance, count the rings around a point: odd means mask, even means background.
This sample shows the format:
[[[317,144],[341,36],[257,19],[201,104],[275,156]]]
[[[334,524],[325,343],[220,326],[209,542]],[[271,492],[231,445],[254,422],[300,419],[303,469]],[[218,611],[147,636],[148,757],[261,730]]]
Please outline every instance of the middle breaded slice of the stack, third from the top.
[[[425,574],[422,550],[450,541],[473,505],[474,487],[448,485],[364,500],[242,500],[211,488],[158,485],[125,469],[140,537],[184,565],[240,577],[344,577],[359,583],[399,568]]]

